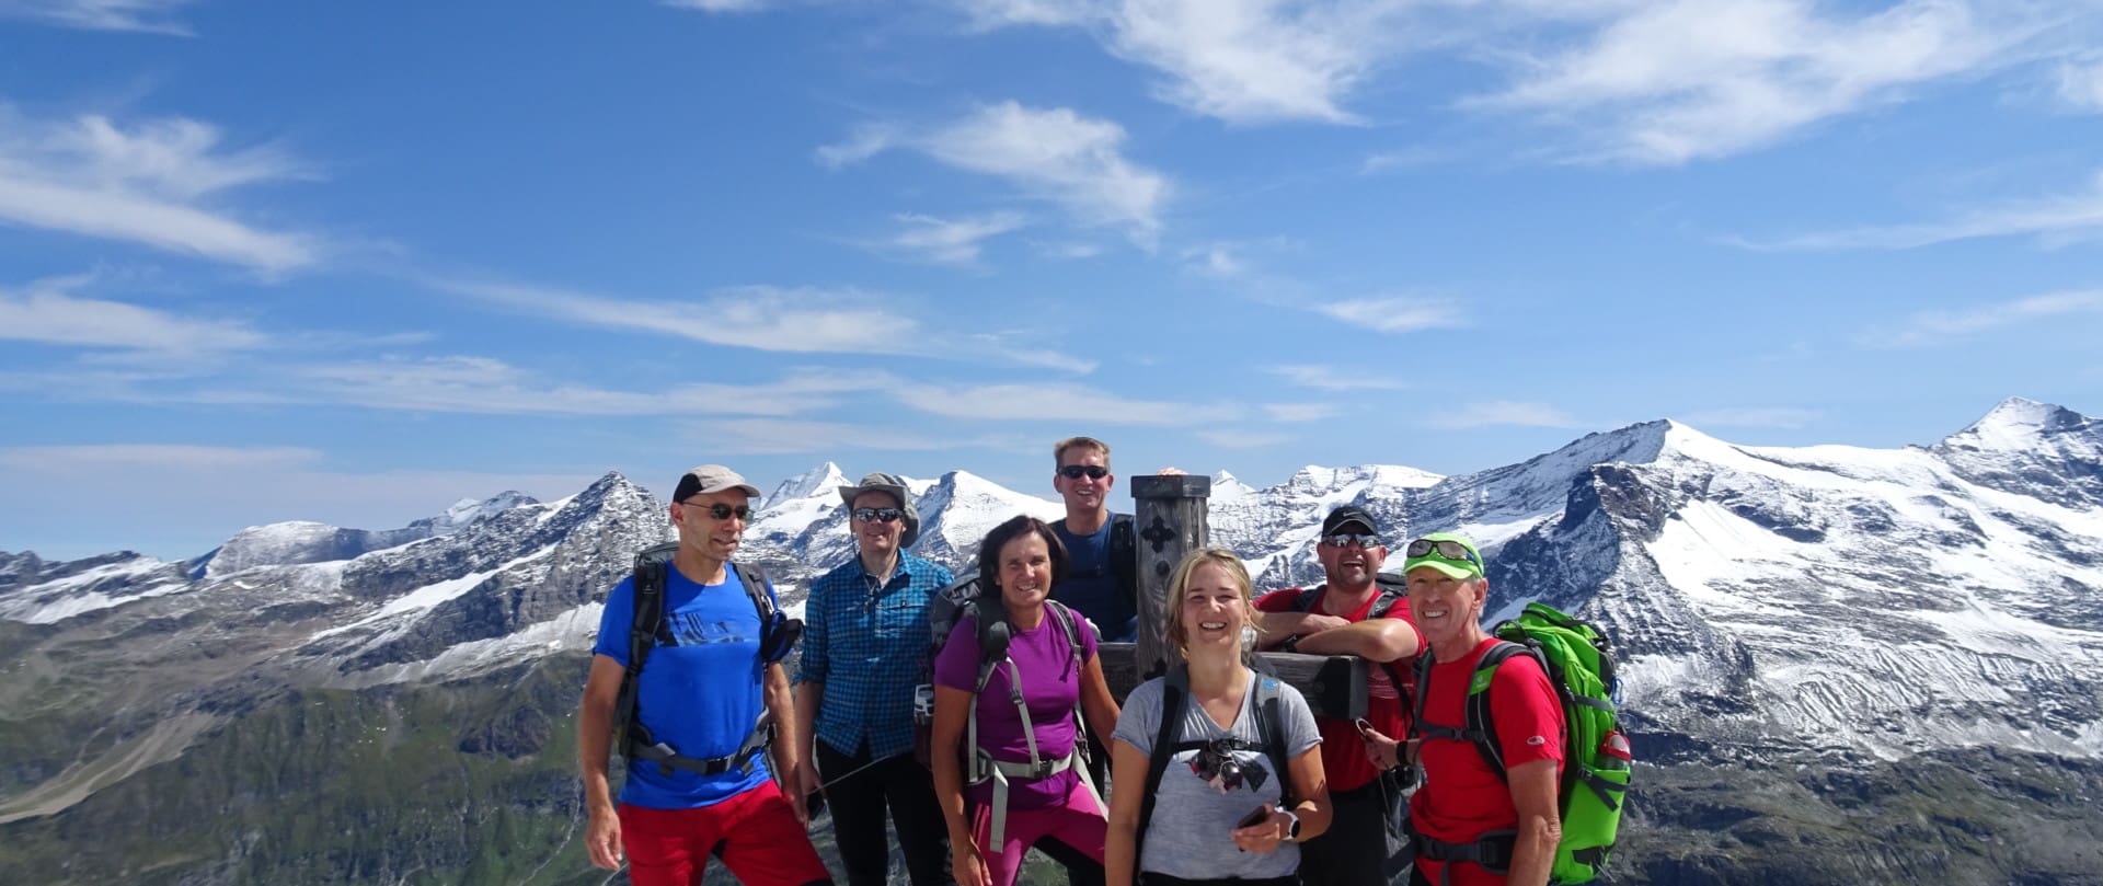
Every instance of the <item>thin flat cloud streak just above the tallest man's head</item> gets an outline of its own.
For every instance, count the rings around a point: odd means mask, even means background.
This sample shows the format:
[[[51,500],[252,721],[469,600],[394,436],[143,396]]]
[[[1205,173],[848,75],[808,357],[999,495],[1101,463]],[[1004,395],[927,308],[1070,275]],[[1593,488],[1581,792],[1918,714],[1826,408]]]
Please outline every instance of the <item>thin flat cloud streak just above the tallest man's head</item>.
[[[1201,406],[1165,400],[1127,400],[1117,394],[1070,385],[900,385],[898,402],[930,415],[976,421],[1091,421],[1102,425],[1190,425],[1232,421],[1239,406]]]

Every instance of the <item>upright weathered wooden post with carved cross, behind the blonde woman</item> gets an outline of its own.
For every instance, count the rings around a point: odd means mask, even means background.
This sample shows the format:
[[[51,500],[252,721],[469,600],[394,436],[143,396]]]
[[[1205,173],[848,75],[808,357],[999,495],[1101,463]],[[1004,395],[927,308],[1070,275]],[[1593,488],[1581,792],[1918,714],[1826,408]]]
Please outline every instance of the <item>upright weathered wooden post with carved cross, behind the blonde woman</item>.
[[[1131,478],[1131,528],[1140,547],[1140,636],[1131,655],[1138,673],[1152,673],[1178,655],[1161,638],[1167,623],[1169,579],[1184,553],[1205,547],[1211,526],[1205,501],[1211,478],[1192,474],[1150,474]]]

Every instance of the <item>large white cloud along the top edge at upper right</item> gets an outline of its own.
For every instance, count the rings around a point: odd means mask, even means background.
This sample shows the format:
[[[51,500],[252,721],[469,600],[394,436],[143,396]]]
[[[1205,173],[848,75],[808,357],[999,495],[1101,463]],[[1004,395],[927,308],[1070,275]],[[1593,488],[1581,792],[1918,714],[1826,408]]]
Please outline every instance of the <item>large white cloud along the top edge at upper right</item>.
[[[1598,13],[1609,8],[1605,21]],[[1598,25],[1476,101],[1573,124],[1607,158],[1678,164],[1764,147],[1937,80],[2023,61],[2021,6],[1905,0],[1849,15],[1813,0],[1584,4]]]

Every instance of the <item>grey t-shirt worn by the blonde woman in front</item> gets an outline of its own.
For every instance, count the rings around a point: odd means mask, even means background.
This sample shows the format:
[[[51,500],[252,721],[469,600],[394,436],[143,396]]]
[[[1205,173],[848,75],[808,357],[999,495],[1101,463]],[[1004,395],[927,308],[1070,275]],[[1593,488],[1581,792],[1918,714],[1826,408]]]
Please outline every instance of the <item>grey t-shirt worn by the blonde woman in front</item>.
[[[1258,726],[1255,680],[1268,678],[1251,676],[1232,730],[1222,730],[1220,724],[1211,722],[1195,699],[1184,705],[1184,722],[1176,741],[1239,739],[1243,745],[1232,749],[1232,756],[1241,762],[1241,783],[1222,787],[1218,779],[1201,777],[1190,766],[1199,756],[1197,749],[1169,758],[1169,768],[1161,774],[1161,789],[1155,791],[1155,817],[1148,823],[1140,871],[1182,880],[1266,880],[1285,878],[1300,869],[1300,844],[1283,844],[1268,854],[1237,852],[1230,835],[1234,823],[1258,804],[1279,802],[1281,777],[1289,777],[1270,772],[1270,756],[1264,753],[1262,728]],[[1283,682],[1279,684],[1279,716],[1285,728],[1287,760],[1321,745],[1321,732],[1314,730],[1314,716],[1308,713],[1306,699]],[[1125,699],[1125,711],[1117,718],[1117,732],[1110,737],[1152,756],[1159,730],[1161,680],[1155,678],[1131,690]]]

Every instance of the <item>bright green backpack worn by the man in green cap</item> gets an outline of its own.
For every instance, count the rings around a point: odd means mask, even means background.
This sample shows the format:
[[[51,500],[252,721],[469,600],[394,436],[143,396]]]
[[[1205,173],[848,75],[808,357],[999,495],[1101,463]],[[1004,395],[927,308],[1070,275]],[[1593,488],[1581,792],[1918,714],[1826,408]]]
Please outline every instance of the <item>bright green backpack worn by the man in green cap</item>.
[[[1483,762],[1504,779],[1504,753],[1497,749],[1497,728],[1489,713],[1489,682],[1506,659],[1529,655],[1548,671],[1548,682],[1563,701],[1563,783],[1556,789],[1563,814],[1563,842],[1548,873],[1556,884],[1592,882],[1613,854],[1613,838],[1621,827],[1626,806],[1630,751],[1628,737],[1615,722],[1613,655],[1607,636],[1592,623],[1571,619],[1546,604],[1527,604],[1518,619],[1497,623],[1491,631],[1504,640],[1483,652],[1468,682],[1468,724],[1464,728],[1424,722],[1424,697],[1430,694],[1432,657],[1417,659],[1415,732],[1434,739],[1468,741]],[[1504,873],[1512,861],[1514,831],[1491,831],[1474,844],[1445,844],[1415,835],[1417,854],[1434,861],[1474,861],[1493,873]]]

